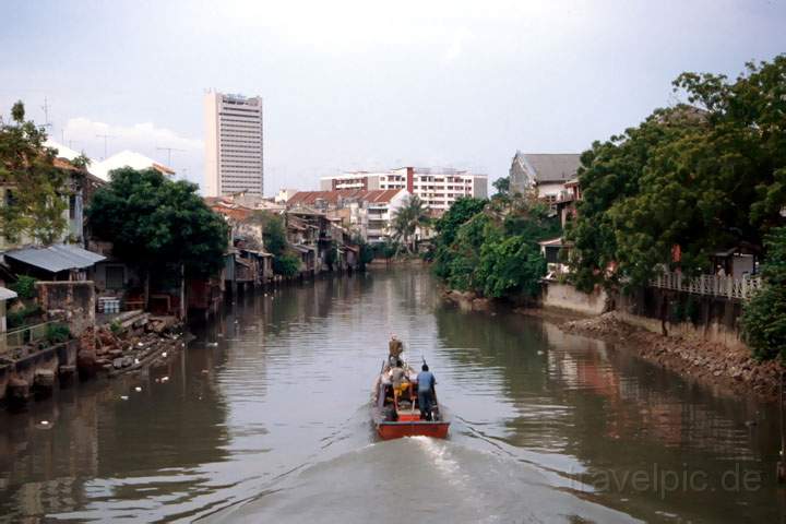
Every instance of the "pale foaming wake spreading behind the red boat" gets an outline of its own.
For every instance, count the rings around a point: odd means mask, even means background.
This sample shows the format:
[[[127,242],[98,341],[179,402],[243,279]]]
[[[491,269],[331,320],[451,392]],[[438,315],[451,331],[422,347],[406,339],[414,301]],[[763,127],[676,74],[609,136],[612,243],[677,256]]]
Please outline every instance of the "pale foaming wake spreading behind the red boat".
[[[424,437],[373,442],[298,468],[207,522],[636,522],[556,488],[536,467]],[[584,521],[582,521],[582,519]]]

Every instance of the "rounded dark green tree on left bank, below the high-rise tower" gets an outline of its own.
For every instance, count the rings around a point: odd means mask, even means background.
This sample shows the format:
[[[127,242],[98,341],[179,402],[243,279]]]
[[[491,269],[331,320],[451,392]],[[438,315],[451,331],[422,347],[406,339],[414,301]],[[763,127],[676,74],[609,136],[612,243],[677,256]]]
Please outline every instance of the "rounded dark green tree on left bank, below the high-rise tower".
[[[223,267],[227,225],[204,204],[196,184],[171,181],[153,168],[126,167],[110,177],[87,209],[90,227],[111,240],[112,253],[146,282],[153,270],[207,276]]]

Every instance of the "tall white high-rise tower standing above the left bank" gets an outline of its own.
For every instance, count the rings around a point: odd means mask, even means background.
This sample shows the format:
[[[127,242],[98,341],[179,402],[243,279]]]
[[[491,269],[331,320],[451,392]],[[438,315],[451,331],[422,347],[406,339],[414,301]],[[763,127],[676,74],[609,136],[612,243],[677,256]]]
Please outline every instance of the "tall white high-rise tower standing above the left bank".
[[[262,195],[262,98],[211,92],[204,98],[204,114],[205,195]]]

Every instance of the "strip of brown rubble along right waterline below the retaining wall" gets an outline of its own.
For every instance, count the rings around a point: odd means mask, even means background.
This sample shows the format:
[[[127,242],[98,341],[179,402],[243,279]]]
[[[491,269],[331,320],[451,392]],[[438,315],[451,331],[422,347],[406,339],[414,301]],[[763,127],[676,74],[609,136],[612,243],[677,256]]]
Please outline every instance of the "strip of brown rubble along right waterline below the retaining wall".
[[[719,343],[664,336],[623,322],[614,311],[599,317],[570,320],[558,324],[572,333],[614,343],[640,357],[699,382],[750,393],[765,402],[778,398],[781,374],[786,370],[777,360],[757,361],[745,348]]]

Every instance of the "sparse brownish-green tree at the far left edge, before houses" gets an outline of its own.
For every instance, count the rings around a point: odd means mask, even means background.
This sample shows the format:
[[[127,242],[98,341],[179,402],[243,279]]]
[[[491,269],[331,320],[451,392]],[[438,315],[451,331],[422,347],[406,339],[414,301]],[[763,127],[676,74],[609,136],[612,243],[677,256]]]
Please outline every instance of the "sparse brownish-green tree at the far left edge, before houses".
[[[0,234],[10,242],[31,236],[48,246],[68,226],[68,176],[55,167],[55,150],[44,146],[44,129],[25,121],[22,102],[13,105],[11,117],[12,123],[0,124],[0,182],[8,188]]]

